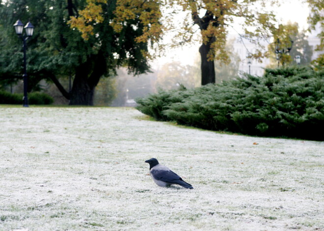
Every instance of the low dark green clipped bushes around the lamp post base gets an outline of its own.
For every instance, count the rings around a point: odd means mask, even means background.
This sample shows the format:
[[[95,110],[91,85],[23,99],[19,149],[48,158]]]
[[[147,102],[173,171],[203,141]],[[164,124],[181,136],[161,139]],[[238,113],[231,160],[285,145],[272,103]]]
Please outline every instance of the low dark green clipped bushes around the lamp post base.
[[[0,91],[0,104],[22,104],[23,94],[11,94],[6,91]],[[32,92],[28,94],[29,104],[52,104],[53,98],[45,93]]]

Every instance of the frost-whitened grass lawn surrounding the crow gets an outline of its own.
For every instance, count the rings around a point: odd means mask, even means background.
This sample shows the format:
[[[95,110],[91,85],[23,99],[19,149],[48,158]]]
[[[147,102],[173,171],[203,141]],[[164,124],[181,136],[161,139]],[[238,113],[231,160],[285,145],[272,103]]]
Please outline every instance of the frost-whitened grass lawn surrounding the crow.
[[[0,231],[324,229],[324,142],[145,118],[0,106]],[[157,186],[151,157],[194,189]]]

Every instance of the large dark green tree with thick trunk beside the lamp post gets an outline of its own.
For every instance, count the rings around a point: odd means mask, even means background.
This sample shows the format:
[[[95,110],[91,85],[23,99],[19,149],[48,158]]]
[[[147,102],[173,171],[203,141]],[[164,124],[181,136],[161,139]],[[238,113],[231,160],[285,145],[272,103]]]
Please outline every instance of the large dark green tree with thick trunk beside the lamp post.
[[[150,12],[150,7],[143,4],[141,9]],[[117,21],[116,0],[11,0],[4,1],[0,11],[7,42],[0,52],[0,77],[18,80],[21,76],[21,41],[14,22],[20,19],[35,26],[28,39],[29,90],[45,78],[54,82],[70,104],[92,105],[96,85],[102,77],[114,75],[116,68],[125,66],[134,74],[149,70],[148,43],[137,41],[140,36],[152,37],[147,31],[158,18],[153,22],[134,11],[134,17]],[[77,25],[88,33],[74,29]],[[69,75],[74,77],[71,92],[60,82]]]

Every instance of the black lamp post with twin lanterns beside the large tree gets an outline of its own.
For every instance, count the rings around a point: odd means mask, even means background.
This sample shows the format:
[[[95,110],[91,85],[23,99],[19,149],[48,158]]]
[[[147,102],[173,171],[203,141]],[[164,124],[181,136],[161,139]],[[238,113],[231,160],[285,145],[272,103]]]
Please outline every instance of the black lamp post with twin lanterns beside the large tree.
[[[27,107],[28,106],[28,98],[27,98],[27,63],[26,63],[26,50],[27,50],[27,44],[26,41],[27,39],[32,36],[32,33],[34,32],[34,26],[30,22],[24,26],[24,24],[20,21],[17,20],[17,22],[13,25],[16,30],[16,34],[23,40],[24,44],[24,98],[23,98],[23,106]],[[23,29],[25,28],[26,34],[23,34]]]

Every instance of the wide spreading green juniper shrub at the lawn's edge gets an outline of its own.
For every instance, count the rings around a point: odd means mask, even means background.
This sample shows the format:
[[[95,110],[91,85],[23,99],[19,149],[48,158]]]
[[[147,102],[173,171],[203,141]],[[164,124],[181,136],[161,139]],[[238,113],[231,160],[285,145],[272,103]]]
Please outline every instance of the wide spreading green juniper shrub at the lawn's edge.
[[[160,91],[137,99],[137,109],[158,120],[250,135],[324,140],[324,71],[266,69],[263,77]]]

